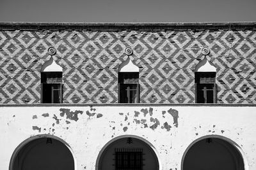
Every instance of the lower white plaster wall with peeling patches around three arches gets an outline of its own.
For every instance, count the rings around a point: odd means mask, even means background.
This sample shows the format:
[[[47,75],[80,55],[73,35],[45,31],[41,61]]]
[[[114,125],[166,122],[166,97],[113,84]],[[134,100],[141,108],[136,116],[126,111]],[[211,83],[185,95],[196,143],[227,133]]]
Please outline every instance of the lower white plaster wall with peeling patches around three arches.
[[[61,108],[77,111],[77,119],[67,118],[67,113],[61,117]],[[150,113],[144,115],[141,110],[145,109]],[[173,124],[170,109],[177,110],[178,124]],[[95,169],[100,150],[122,135],[139,136],[151,143],[163,170],[181,169],[182,156],[196,139],[223,136],[243,150],[248,169],[256,169],[256,106],[1,106],[0,113],[0,169],[8,169],[12,153],[20,143],[38,134],[52,134],[67,142],[77,170]],[[44,113],[49,116],[43,116]],[[150,128],[157,121],[159,125]],[[172,127],[165,129],[165,122]]]

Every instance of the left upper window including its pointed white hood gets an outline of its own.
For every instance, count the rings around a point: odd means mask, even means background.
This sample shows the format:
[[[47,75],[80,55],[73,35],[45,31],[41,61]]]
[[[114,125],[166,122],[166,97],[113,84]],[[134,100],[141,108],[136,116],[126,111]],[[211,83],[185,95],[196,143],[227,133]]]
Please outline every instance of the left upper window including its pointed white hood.
[[[51,57],[41,69],[41,103],[62,103],[62,94],[62,68]]]

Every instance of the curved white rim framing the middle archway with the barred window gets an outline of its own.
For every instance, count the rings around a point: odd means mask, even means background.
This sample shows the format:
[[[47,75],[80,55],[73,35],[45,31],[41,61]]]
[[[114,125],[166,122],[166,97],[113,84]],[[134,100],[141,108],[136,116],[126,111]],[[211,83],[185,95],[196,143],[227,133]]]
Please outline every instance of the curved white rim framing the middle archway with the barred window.
[[[106,148],[108,148],[108,146],[117,141],[118,139],[122,139],[122,138],[136,138],[136,139],[139,139],[141,141],[143,141],[144,143],[146,143],[152,150],[153,152],[156,154],[156,159],[158,161],[158,168],[159,170],[163,170],[163,167],[162,167],[162,164],[161,164],[161,161],[160,161],[160,157],[159,157],[159,154],[157,153],[157,150],[156,148],[152,145],[152,143],[150,143],[149,141],[147,141],[146,139],[144,138],[141,138],[140,136],[135,136],[135,135],[132,135],[132,134],[125,134],[125,135],[122,135],[122,136],[117,136],[116,138],[113,138],[111,139],[110,141],[108,141],[108,143],[106,143],[106,145],[104,145],[100,152],[99,152],[99,155],[97,157],[97,160],[96,160],[96,165],[95,165],[95,170],[99,170],[99,164],[100,164],[100,157],[102,156],[102,153],[104,153],[104,151],[106,150]]]

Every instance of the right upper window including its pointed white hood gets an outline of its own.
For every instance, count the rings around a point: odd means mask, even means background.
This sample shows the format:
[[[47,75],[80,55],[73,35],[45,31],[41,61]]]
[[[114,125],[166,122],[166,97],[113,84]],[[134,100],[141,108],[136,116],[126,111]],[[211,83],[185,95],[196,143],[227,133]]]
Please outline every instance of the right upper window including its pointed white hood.
[[[216,67],[206,57],[195,69],[195,103],[217,103]]]

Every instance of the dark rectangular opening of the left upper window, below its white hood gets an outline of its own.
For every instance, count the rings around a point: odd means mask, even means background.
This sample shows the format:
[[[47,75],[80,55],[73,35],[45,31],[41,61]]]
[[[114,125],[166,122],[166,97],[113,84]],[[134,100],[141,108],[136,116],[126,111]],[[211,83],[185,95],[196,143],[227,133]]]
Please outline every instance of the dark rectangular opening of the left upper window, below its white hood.
[[[41,73],[42,103],[62,103],[63,85],[61,72]]]

